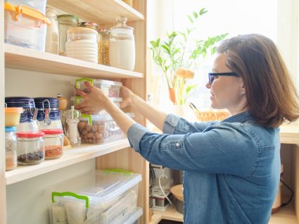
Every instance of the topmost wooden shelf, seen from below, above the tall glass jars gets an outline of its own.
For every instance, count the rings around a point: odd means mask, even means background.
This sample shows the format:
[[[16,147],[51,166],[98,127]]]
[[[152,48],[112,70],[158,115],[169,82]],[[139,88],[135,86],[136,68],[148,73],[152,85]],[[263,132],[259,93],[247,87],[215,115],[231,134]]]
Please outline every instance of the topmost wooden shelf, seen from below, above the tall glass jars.
[[[47,4],[99,25],[115,23],[120,15],[127,17],[129,22],[144,20],[144,15],[121,0],[48,0]]]

